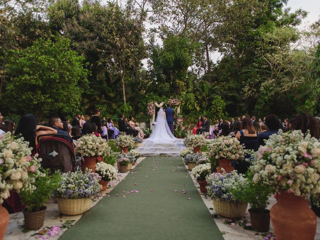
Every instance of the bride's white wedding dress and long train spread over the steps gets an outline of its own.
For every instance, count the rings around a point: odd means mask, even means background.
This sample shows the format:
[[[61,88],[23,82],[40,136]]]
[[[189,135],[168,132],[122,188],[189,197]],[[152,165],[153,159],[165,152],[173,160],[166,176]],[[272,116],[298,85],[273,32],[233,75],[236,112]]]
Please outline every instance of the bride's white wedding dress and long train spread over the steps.
[[[136,150],[143,156],[178,156],[181,149],[185,148],[182,139],[176,138],[169,129],[162,108],[156,116],[154,129],[150,136],[143,140],[142,145]]]

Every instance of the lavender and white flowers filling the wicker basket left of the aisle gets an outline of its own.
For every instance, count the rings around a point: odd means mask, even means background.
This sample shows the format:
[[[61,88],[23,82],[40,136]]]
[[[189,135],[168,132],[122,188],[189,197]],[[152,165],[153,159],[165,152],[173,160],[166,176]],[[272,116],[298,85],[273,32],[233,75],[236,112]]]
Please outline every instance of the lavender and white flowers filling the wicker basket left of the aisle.
[[[65,172],[59,186],[54,190],[54,196],[60,198],[88,198],[96,195],[101,190],[100,176],[86,169],[85,172]]]

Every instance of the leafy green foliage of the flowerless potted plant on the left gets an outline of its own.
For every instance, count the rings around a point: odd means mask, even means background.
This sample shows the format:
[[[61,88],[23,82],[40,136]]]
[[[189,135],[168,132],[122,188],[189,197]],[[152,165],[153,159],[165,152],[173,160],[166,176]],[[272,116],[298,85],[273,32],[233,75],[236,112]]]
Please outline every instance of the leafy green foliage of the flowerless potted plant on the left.
[[[42,170],[43,175],[35,180],[36,189],[33,192],[21,190],[19,195],[28,211],[39,211],[40,207],[50,198],[52,191],[59,186],[61,175],[55,171],[49,175],[49,169]]]

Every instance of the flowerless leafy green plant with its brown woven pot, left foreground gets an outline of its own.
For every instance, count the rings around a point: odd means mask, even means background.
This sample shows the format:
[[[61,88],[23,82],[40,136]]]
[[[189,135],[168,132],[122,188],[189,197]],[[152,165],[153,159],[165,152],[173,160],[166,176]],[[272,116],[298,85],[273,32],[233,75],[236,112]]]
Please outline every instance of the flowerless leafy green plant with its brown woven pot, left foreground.
[[[19,196],[26,208],[22,210],[24,216],[24,227],[26,229],[38,229],[43,226],[46,206],[44,203],[50,198],[61,180],[60,172],[56,171],[49,175],[49,170],[43,170],[35,182],[33,191],[22,189]]]

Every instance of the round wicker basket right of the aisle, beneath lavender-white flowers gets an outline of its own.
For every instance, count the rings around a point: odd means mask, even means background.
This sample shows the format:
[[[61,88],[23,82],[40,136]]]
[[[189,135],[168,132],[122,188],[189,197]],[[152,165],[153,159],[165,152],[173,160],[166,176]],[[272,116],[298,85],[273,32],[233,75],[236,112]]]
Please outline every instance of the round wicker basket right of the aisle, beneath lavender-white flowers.
[[[244,216],[248,203],[229,202],[213,198],[213,207],[217,214],[230,218],[239,218]]]

